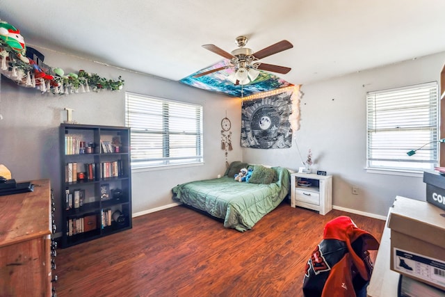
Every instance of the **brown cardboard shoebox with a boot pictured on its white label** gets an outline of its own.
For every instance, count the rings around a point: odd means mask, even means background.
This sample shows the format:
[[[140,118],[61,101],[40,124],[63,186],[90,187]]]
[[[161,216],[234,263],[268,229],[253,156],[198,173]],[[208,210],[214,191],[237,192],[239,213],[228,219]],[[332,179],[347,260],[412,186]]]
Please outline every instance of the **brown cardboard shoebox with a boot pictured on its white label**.
[[[445,289],[445,211],[397,196],[390,209],[391,270]]]

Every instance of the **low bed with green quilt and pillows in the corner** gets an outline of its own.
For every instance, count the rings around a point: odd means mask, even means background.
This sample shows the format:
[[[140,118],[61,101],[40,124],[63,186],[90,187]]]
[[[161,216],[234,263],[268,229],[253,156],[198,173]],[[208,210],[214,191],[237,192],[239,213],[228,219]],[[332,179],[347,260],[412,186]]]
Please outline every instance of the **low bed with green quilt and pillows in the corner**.
[[[234,179],[234,172],[241,168],[253,169],[249,182]],[[284,200],[289,186],[290,174],[286,168],[235,161],[223,177],[179,184],[172,188],[172,193],[173,199],[186,206],[220,218],[224,227],[244,232]]]

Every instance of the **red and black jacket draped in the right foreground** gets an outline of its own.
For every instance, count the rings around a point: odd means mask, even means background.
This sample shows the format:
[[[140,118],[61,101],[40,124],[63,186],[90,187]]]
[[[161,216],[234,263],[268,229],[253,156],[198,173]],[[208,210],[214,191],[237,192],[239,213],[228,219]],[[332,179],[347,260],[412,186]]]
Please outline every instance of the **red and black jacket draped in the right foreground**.
[[[348,216],[325,225],[323,241],[312,252],[305,268],[303,294],[306,297],[366,296],[373,264],[368,250],[379,243]]]

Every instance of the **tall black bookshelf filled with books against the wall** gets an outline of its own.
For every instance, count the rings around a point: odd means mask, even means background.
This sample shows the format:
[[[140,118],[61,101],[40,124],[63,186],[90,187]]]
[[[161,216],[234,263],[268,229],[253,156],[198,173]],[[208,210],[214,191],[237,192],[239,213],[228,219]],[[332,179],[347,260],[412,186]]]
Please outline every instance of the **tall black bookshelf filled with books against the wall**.
[[[62,248],[128,230],[130,129],[60,125]]]

